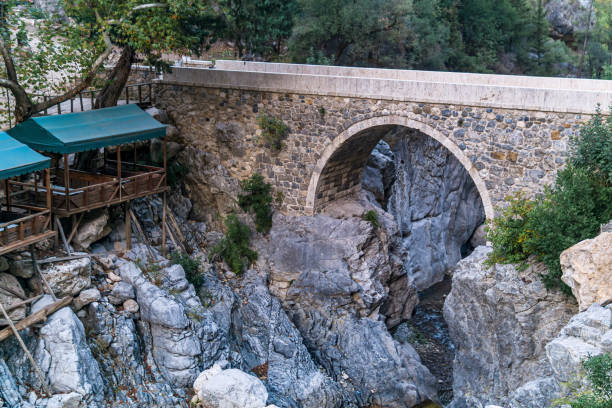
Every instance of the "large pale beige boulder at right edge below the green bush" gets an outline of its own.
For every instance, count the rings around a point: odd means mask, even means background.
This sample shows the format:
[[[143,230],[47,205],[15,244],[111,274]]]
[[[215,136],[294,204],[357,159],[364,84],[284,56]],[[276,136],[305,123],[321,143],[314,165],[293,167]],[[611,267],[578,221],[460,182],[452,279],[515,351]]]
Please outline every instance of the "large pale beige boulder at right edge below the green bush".
[[[561,279],[578,300],[580,311],[612,302],[612,233],[604,232],[561,253]]]

